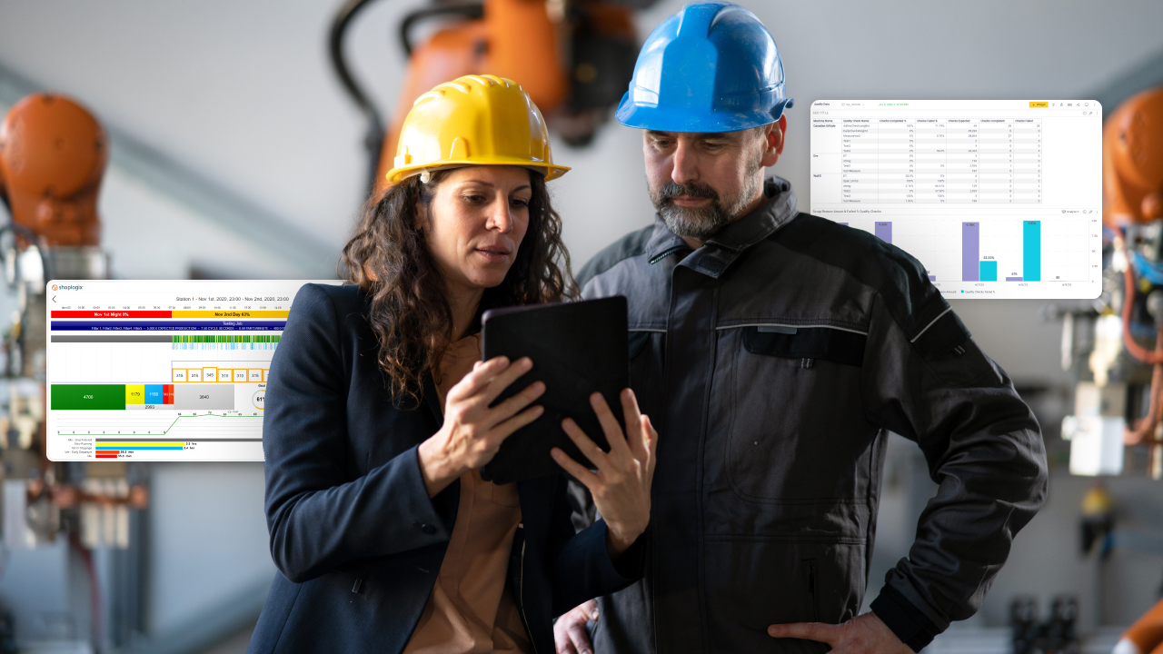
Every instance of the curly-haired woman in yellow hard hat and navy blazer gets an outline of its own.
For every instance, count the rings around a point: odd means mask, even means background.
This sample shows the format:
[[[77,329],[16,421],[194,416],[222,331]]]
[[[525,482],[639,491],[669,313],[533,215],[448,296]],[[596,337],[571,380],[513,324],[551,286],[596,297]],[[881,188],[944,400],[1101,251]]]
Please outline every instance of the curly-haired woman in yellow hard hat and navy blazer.
[[[545,180],[544,121],[515,83],[470,76],[416,100],[394,184],[343,250],[354,284],[306,285],[271,367],[263,447],[279,568],[250,652],[554,649],[551,617],[628,585],[657,435],[594,396],[611,452],[566,420],[604,520],[573,535],[565,477],[494,485],[478,469],[536,419],[535,362],[478,362],[480,314],[570,294]]]

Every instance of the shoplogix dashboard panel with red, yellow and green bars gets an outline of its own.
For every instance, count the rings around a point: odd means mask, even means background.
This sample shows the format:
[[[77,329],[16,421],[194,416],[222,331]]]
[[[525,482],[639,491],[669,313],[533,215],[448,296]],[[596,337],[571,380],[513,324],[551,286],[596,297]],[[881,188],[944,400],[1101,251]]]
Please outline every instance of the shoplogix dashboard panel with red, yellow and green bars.
[[[308,283],[50,282],[48,457],[262,461],[271,358]]]

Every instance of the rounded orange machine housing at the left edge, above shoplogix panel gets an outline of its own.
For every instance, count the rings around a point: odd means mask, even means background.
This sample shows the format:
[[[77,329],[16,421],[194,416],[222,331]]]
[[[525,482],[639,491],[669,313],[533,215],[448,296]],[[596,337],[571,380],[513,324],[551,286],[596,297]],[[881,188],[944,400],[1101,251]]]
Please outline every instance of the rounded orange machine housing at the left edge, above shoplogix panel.
[[[0,123],[0,194],[13,220],[50,246],[97,246],[97,198],[108,138],[93,114],[65,98],[34,93]]]

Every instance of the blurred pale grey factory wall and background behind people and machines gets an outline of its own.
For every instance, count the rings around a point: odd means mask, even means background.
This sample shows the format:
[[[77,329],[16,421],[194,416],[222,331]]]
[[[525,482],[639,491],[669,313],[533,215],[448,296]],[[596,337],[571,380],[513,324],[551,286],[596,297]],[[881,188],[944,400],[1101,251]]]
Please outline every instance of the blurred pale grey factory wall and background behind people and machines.
[[[797,99],[786,114],[786,150],[771,172],[791,180],[804,211],[813,100],[1078,98],[1097,99],[1110,113],[1163,86],[1163,5],[1153,0],[741,3],[775,35]],[[105,126],[112,156],[100,242],[115,278],[334,277],[369,179],[368,121],[328,56],[340,5],[0,0],[0,115],[31,92],[56,91]],[[682,1],[641,5],[629,14],[638,42]],[[381,0],[350,23],[347,59],[385,121],[398,118],[406,84],[400,22],[428,6]],[[413,40],[457,20],[464,19],[426,20]],[[573,166],[551,191],[577,270],[651,220],[640,134],[609,120],[588,144],[556,142],[554,152]],[[1163,592],[1163,482],[1147,472],[1143,448],[1128,448],[1122,474],[1103,478],[1105,498],[1091,496],[1091,506],[1110,511],[1083,516],[1094,478],[1068,469],[1061,424],[1075,410],[1077,376],[1063,370],[1057,315],[1087,303],[1049,304],[954,303],[1034,406],[1050,456],[1050,495],[982,611],[933,652],[1009,652],[1011,606],[1022,597],[1039,602],[1040,618],[1054,598],[1076,598],[1083,648],[1110,652]],[[16,310],[16,296],[0,293],[5,324]],[[244,649],[274,575],[262,465],[156,463],[142,474],[149,505],[133,511],[138,535],[128,548],[92,549],[99,597],[88,595],[90,575],[67,539],[0,549],[0,603],[14,620],[0,631],[14,628],[20,647],[88,652],[79,642],[98,633],[100,651]],[[933,488],[919,449],[894,438],[869,600],[907,554]],[[1089,554],[1084,526],[1099,532]],[[104,612],[94,613],[94,604]],[[101,624],[92,624],[94,614]]]

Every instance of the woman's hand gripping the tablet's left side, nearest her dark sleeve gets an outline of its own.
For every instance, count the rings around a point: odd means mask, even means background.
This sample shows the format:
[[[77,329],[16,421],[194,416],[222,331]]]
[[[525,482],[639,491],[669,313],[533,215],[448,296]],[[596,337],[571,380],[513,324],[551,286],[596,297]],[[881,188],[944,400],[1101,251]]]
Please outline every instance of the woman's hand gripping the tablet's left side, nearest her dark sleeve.
[[[471,372],[449,389],[444,425],[420,443],[418,450],[428,497],[435,497],[461,475],[492,461],[505,439],[542,414],[541,406],[521,411],[545,392],[542,382],[534,382],[520,393],[488,407],[501,391],[530,369],[529,357],[512,365],[504,356],[478,361]]]

